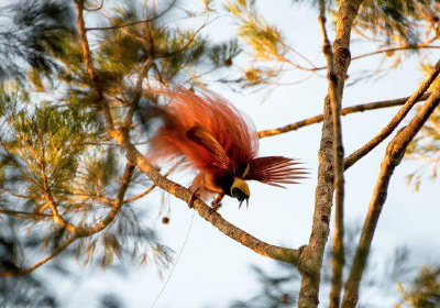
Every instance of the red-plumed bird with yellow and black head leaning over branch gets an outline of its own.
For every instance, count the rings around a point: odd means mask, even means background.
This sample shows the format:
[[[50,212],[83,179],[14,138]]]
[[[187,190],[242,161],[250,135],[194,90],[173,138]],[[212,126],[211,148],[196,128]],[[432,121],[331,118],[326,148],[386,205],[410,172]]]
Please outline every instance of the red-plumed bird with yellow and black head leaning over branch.
[[[237,198],[239,208],[244,200],[249,206],[246,180],[283,187],[304,178],[306,172],[292,158],[257,157],[258,135],[252,121],[224,98],[182,87],[155,92],[167,100],[155,107],[163,123],[148,142],[148,158],[183,157],[184,167],[198,172],[189,189],[204,200],[217,195],[216,210],[224,195]]]

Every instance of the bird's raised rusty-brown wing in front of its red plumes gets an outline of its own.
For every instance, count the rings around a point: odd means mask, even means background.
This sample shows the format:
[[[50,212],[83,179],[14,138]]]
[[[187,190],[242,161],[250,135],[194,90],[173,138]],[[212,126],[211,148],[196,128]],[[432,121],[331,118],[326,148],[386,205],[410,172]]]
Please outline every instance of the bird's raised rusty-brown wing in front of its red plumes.
[[[186,136],[212,154],[211,157],[213,162],[211,163],[213,166],[226,170],[231,170],[233,168],[231,160],[224,148],[206,129],[196,124],[186,132]]]

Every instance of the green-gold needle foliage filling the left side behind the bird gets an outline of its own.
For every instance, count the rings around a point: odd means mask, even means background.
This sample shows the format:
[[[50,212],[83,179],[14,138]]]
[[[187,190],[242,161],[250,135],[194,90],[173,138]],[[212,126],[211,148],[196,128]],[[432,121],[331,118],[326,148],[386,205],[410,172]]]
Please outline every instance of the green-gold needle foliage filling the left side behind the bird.
[[[0,216],[19,219],[19,230],[26,226],[32,233],[32,246],[19,239],[24,256],[33,250],[51,253],[75,235],[54,219],[55,208],[79,230],[95,230],[110,212],[116,216],[102,231],[80,235],[66,249],[72,253],[67,256],[75,252],[84,265],[106,268],[131,260],[162,270],[170,262],[172,252],[160,243],[151,223],[140,219],[146,213],[132,208],[150,189],[144,174],[134,170],[120,210],[114,211],[125,160],[107,135],[97,100],[101,96],[109,102],[114,124],[120,125],[148,61],[153,66],[145,89],[194,85],[205,82],[199,76],[230,70],[241,48],[237,40],[211,43],[200,34],[213,12],[211,1],[200,3],[206,11],[185,11],[184,16],[174,2],[148,3],[106,1],[106,11],[85,14],[86,28],[98,21],[87,37],[99,89],[85,64],[72,11],[75,3],[15,1],[1,11],[8,25],[0,32]],[[196,29],[165,22],[188,16],[207,21]],[[146,94],[142,100],[151,98]],[[133,140],[144,134],[140,128],[131,131]],[[2,220],[0,228],[10,229]]]

